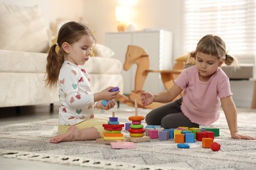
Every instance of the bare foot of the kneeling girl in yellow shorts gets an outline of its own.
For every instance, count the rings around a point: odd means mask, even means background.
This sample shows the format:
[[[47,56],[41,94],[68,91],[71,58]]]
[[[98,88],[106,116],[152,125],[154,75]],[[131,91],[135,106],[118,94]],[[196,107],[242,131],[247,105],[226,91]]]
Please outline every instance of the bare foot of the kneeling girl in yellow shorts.
[[[75,133],[77,133],[79,129],[75,126],[70,127],[67,133],[63,135],[58,135],[50,140],[50,143],[60,143],[65,141],[75,141]]]

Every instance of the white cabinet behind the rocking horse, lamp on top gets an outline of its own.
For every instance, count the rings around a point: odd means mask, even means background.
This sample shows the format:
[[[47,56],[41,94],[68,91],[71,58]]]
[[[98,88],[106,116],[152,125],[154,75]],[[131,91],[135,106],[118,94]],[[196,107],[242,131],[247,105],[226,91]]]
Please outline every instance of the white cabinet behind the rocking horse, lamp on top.
[[[150,69],[172,68],[172,33],[165,30],[135,31],[135,32],[112,32],[106,33],[106,46],[115,52],[114,58],[125,62],[127,46],[133,44],[146,50],[150,57]],[[135,72],[137,65],[134,64],[129,71],[122,71],[124,89],[123,93],[129,94],[134,89]],[[143,90],[152,93],[165,90],[161,82],[160,73],[148,73]]]

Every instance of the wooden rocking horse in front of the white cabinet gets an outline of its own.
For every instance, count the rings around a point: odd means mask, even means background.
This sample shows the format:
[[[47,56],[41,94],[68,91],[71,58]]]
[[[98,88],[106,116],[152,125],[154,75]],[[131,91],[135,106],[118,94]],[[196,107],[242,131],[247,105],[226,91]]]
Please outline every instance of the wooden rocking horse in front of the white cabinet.
[[[140,92],[143,91],[142,88],[148,73],[160,73],[163,86],[165,86],[165,89],[169,89],[173,85],[173,80],[175,80],[179,74],[181,74],[185,67],[184,62],[177,62],[173,66],[173,70],[150,70],[150,59],[146,51],[139,46],[129,45],[125,54],[125,63],[123,64],[123,69],[128,71],[133,63],[137,64],[134,90],[131,92],[131,94],[129,94],[128,97],[126,95],[117,94],[116,99],[117,101],[132,107],[134,107],[135,99],[137,99],[138,107],[148,109],[154,109],[165,104],[153,102],[151,105],[145,107],[142,106],[140,101]]]

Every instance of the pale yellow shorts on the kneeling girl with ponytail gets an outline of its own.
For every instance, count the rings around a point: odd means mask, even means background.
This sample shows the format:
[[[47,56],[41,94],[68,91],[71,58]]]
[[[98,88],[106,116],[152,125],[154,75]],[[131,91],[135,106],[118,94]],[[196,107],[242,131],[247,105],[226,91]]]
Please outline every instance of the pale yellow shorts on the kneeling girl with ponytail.
[[[104,132],[104,127],[102,127],[102,124],[108,124],[108,119],[107,118],[93,118],[93,119],[85,119],[83,122],[80,122],[79,124],[75,124],[74,126],[77,127],[78,129],[85,129],[89,127],[95,127],[100,133],[100,136],[102,137],[103,132]],[[71,126],[64,126],[64,125],[58,125],[58,134],[62,135],[70,129]]]

